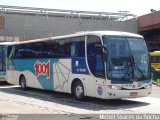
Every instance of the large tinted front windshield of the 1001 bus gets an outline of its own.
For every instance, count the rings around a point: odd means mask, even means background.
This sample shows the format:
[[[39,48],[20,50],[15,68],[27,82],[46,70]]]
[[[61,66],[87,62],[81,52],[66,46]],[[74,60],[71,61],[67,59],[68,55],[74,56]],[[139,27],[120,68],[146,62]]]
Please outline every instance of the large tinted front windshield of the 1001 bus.
[[[109,79],[144,80],[150,78],[149,56],[142,38],[104,36],[108,48]]]

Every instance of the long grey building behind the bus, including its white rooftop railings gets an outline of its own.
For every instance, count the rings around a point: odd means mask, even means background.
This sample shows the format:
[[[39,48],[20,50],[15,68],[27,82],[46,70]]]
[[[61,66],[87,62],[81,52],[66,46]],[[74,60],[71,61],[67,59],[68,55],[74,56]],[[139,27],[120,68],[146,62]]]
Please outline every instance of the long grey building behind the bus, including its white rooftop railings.
[[[24,41],[79,31],[115,30],[138,33],[133,16],[123,12],[92,12],[0,5],[0,41]]]

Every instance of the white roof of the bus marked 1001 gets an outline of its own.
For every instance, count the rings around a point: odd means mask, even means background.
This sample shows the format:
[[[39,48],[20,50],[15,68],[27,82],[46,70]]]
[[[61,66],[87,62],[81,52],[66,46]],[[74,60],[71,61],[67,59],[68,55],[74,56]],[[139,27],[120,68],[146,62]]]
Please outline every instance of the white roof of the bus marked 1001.
[[[143,36],[141,36],[141,35],[134,34],[134,33],[129,33],[129,32],[120,32],[120,31],[81,31],[81,32],[76,32],[75,34],[70,34],[70,35],[34,39],[34,40],[23,41],[23,42],[4,42],[3,44],[5,44],[5,43],[6,43],[6,45],[25,44],[25,43],[32,43],[32,42],[34,43],[34,42],[47,41],[47,40],[51,40],[51,39],[63,39],[63,38],[69,38],[69,37],[78,37],[78,36],[84,36],[84,35],[96,35],[96,36],[103,36],[103,35],[111,35],[112,36],[113,35],[113,36],[143,38]]]

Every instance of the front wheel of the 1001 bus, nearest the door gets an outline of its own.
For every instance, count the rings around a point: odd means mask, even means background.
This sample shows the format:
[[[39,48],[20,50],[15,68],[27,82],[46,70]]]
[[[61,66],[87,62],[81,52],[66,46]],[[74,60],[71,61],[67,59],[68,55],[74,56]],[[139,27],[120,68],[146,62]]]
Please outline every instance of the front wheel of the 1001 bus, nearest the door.
[[[83,100],[84,99],[84,87],[81,81],[77,81],[74,84],[74,88],[73,88],[73,94],[74,97],[77,100]]]

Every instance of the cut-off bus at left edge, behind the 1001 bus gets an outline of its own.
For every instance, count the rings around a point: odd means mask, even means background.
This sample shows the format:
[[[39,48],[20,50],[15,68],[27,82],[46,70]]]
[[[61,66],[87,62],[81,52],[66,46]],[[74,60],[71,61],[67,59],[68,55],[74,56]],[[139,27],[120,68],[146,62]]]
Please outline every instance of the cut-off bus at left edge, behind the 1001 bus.
[[[6,46],[0,45],[0,82],[6,81]]]

